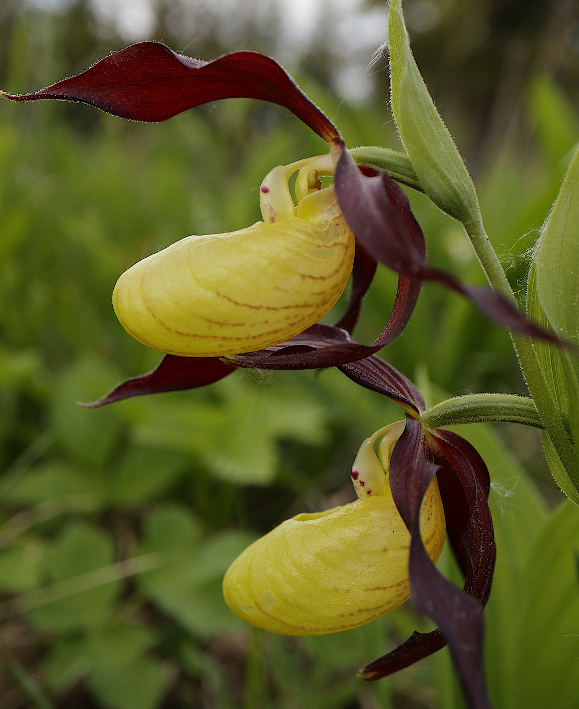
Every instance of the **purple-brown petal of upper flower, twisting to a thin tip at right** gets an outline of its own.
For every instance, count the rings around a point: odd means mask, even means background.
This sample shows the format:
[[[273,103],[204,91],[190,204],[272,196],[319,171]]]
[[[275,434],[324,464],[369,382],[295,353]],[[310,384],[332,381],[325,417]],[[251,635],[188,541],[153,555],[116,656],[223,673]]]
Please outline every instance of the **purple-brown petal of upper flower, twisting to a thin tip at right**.
[[[386,173],[359,169],[344,150],[335,174],[337,200],[344,218],[371,256],[398,274],[436,281],[468,298],[491,320],[528,337],[567,345],[529,322],[506,298],[484,286],[465,286],[450,273],[429,267],[425,238],[410,202]]]

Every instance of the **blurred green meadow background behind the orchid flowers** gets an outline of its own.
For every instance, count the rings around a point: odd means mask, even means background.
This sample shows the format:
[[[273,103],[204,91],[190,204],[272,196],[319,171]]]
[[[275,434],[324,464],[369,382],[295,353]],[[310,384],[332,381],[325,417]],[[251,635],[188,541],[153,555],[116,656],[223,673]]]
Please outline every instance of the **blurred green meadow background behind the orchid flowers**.
[[[416,0],[406,12],[523,296],[529,249],[579,139],[578,7]],[[367,69],[385,28],[381,4],[355,0],[1,0],[0,86],[38,89],[139,38],[203,59],[250,48],[285,62],[350,147],[399,147],[386,58]],[[336,370],[237,372],[98,411],[76,403],[159,361],[116,321],[118,275],[191,233],[258,220],[269,169],[324,150],[286,111],[253,101],[159,125],[0,103],[1,709],[461,708],[446,650],[375,685],[355,679],[429,627],[410,603],[358,630],[293,639],[245,627],[221,598],[225,569],[257,535],[354,498],[357,447],[400,409]],[[459,225],[410,196],[432,263],[482,283]],[[378,270],[361,341],[386,322],[395,284]],[[429,403],[525,393],[507,333],[439,286],[425,286],[381,354]],[[493,703],[567,707],[579,698],[579,512],[561,502],[538,432],[461,433],[493,479]],[[439,566],[461,584],[446,551]]]

